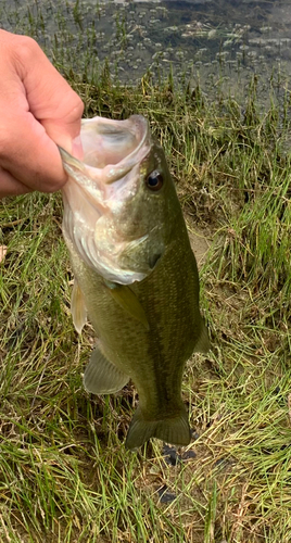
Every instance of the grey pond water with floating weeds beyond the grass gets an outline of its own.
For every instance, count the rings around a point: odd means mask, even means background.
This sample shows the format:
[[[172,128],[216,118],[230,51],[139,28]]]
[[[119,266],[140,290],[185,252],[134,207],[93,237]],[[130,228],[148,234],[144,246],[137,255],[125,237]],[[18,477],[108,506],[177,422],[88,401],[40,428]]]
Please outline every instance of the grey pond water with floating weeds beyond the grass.
[[[245,94],[256,74],[286,93],[291,75],[290,0],[0,0],[1,27],[33,36],[63,72],[130,83],[148,71]]]

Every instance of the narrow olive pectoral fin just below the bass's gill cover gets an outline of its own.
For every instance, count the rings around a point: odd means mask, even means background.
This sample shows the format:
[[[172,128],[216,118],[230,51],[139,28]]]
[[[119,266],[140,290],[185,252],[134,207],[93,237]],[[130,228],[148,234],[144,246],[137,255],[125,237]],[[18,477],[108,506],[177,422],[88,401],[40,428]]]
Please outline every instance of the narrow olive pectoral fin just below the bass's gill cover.
[[[127,285],[116,285],[111,281],[105,281],[105,285],[109,288],[113,300],[115,300],[115,302],[121,305],[126,313],[129,313],[131,317],[142,323],[147,330],[149,330],[150,326],[147,315],[135,292],[132,292]]]

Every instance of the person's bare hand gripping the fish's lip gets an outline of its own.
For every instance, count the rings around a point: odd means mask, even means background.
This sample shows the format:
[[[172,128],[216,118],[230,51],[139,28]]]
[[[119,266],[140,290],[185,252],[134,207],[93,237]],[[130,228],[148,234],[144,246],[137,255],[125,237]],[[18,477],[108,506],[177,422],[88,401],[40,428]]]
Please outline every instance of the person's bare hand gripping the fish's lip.
[[[0,30],[0,198],[53,192],[67,180],[84,105],[35,40]]]

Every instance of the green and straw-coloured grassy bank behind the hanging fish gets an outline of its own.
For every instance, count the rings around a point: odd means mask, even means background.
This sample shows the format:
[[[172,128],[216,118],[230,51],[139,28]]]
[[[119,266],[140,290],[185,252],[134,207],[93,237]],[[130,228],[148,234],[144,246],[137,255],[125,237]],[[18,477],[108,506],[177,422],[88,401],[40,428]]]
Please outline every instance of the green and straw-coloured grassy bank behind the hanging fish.
[[[144,114],[162,142],[189,230],[208,245],[213,349],[185,374],[191,445],[126,452],[134,388],[97,397],[81,387],[93,330],[78,337],[69,316],[60,194],[4,200],[0,540],[289,543],[289,96],[260,113],[254,85],[241,108],[170,78],[124,89],[104,70],[100,87],[71,84],[87,116]]]

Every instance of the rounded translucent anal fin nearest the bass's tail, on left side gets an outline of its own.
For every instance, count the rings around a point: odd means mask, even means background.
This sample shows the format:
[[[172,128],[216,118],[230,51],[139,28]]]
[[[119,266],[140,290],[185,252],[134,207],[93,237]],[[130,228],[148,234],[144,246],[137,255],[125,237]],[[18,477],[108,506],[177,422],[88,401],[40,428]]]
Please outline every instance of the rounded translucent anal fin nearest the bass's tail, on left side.
[[[112,364],[97,346],[85,369],[83,383],[87,392],[112,394],[123,389],[129,377]]]

